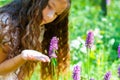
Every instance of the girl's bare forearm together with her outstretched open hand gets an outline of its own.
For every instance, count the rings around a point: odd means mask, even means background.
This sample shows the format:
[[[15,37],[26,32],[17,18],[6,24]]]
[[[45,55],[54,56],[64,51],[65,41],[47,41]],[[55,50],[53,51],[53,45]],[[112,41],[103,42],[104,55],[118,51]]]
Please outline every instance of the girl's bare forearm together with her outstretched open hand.
[[[5,60],[0,63],[0,75],[4,75],[10,73],[21,65],[23,65],[26,61],[43,61],[50,62],[48,56],[35,51],[35,50],[23,50],[21,54],[18,56],[11,58],[9,60]]]

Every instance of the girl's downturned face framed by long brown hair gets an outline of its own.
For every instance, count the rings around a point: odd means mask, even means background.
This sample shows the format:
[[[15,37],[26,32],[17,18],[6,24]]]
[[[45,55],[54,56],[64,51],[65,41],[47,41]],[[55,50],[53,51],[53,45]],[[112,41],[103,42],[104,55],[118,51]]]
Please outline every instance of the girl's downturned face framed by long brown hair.
[[[48,5],[42,11],[41,25],[54,21],[67,8],[67,2],[67,0],[49,0]]]

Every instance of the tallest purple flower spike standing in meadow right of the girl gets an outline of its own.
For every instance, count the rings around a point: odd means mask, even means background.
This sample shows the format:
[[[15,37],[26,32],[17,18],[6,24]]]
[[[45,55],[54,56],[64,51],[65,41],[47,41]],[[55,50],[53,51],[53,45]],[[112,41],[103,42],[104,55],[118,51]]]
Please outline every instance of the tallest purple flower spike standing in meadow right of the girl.
[[[91,48],[93,46],[93,43],[94,43],[94,34],[92,31],[89,31],[87,35],[86,43],[85,43],[86,47]]]

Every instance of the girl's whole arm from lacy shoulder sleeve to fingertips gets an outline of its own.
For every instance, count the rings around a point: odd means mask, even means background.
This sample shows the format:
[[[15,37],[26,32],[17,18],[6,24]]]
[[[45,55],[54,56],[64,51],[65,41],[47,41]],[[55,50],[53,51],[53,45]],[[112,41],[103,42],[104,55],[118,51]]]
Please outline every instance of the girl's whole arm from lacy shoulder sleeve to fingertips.
[[[0,75],[15,71],[29,60],[49,62],[48,56],[35,50],[23,50],[21,54],[7,59],[8,54],[14,52],[20,42],[19,28],[10,26],[11,22],[9,14],[0,14]]]

